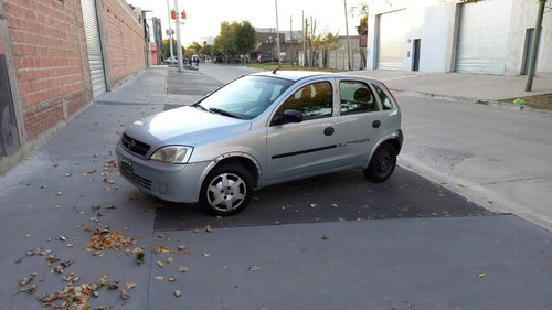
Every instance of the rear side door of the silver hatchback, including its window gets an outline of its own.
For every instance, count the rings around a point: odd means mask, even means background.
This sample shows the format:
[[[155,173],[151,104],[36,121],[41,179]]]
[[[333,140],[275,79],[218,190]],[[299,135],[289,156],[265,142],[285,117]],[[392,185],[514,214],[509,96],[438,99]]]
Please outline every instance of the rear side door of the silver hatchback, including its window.
[[[381,110],[373,88],[363,81],[339,82],[340,115],[336,136],[340,165],[367,163],[371,150],[385,131],[385,113]]]

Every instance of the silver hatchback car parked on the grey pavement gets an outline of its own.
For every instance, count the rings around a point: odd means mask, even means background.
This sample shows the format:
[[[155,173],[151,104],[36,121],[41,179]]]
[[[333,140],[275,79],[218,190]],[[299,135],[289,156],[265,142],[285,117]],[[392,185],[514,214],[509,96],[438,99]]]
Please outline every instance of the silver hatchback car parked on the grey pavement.
[[[116,154],[123,177],[140,190],[231,215],[253,189],[280,182],[352,168],[383,182],[402,142],[401,111],[383,83],[275,71],[137,120]]]

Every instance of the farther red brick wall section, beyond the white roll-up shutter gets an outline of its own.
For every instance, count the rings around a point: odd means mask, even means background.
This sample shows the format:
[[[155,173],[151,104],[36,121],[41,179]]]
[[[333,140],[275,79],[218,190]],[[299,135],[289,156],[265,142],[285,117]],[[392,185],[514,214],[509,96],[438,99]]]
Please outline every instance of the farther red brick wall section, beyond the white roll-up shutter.
[[[124,0],[102,0],[112,86],[146,67],[144,29]]]

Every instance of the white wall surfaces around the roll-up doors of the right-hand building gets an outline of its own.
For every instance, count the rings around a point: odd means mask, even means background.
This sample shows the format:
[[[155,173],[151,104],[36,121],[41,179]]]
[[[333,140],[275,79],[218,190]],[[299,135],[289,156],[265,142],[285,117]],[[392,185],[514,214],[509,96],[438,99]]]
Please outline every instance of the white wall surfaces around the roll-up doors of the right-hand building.
[[[514,0],[512,2],[505,75],[518,76],[523,67],[526,32],[527,29],[535,26],[539,6],[538,1]],[[371,3],[368,19],[367,70],[375,70],[378,65],[376,15],[406,9],[408,21],[397,25],[406,29],[403,70],[412,70],[413,42],[414,39],[421,39],[421,72],[448,73],[455,71],[458,19],[461,7],[459,0],[395,0]],[[537,76],[552,75],[551,12],[544,13],[535,74]]]

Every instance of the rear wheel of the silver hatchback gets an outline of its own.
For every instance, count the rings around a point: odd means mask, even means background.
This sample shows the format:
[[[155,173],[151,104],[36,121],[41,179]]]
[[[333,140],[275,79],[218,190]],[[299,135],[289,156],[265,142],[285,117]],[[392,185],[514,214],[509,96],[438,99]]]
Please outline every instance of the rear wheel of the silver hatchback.
[[[381,145],[374,152],[364,175],[374,183],[388,180],[396,165],[396,150],[390,142]]]

